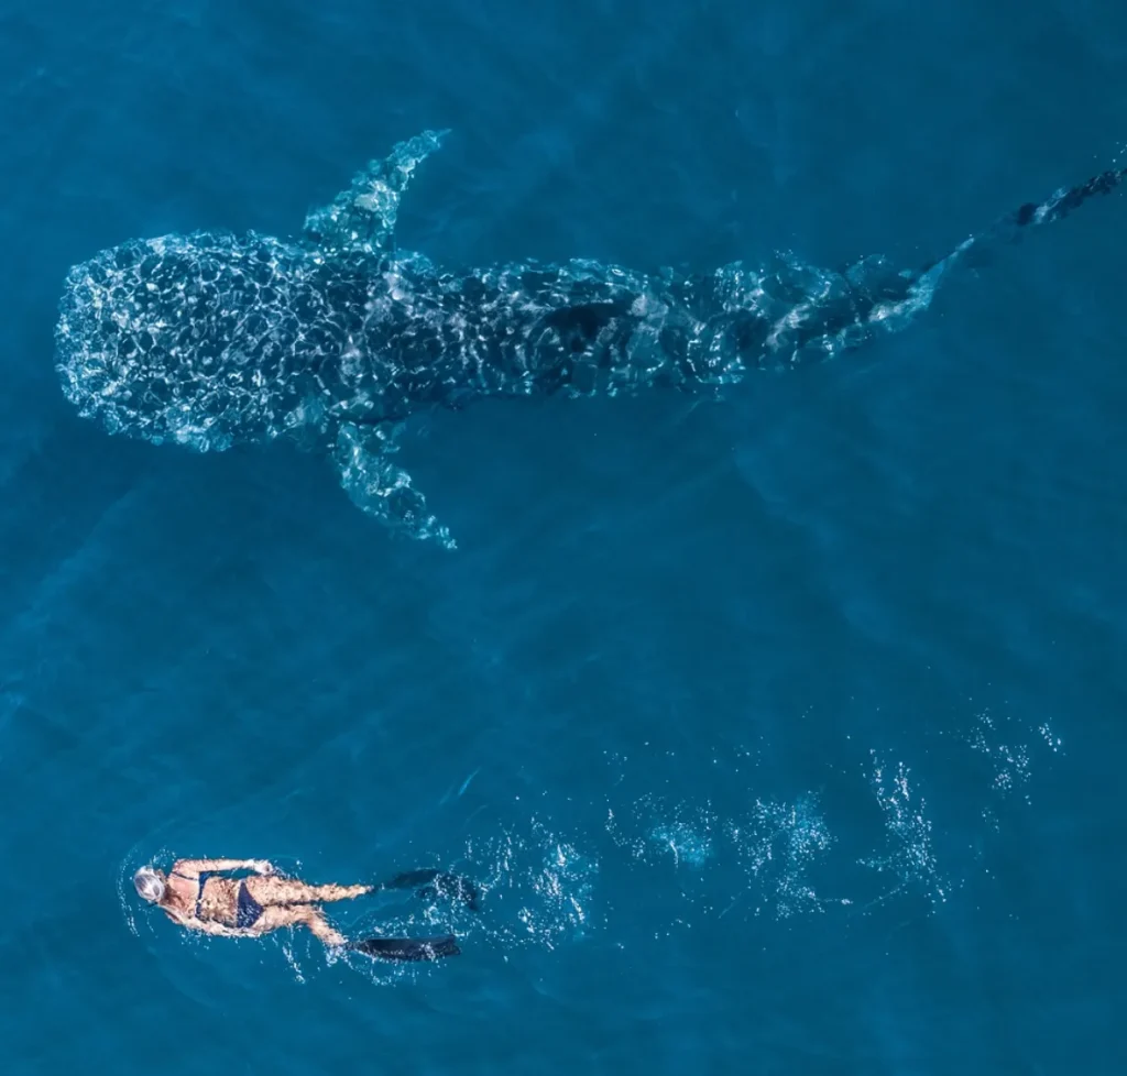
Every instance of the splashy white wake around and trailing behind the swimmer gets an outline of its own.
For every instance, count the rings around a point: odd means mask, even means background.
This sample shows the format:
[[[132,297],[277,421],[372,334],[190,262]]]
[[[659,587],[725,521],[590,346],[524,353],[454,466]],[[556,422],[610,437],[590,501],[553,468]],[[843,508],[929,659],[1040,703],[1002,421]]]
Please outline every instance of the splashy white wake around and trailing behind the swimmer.
[[[979,818],[994,835],[1002,835],[1004,807],[1028,803],[1037,753],[1061,753],[1061,738],[1046,722],[1024,728],[1004,711],[978,710],[968,727],[956,732],[955,742],[978,773],[985,802]],[[712,761],[721,754],[717,750]],[[674,755],[665,752],[659,757],[669,763],[669,772],[683,776],[681,761],[673,764]],[[727,793],[735,790],[738,799],[743,791],[743,809],[720,809],[711,799],[681,795],[675,782],[666,793],[630,797],[627,777],[638,771],[654,781],[660,773],[655,768],[657,759],[605,755],[610,766],[606,792],[591,803],[602,806],[601,821],[596,817],[567,825],[548,810],[524,820],[482,820],[453,855],[447,850],[447,854],[424,856],[442,863],[443,871],[471,879],[480,890],[479,906],[426,889],[389,891],[364,898],[356,906],[363,909],[361,914],[343,928],[349,936],[451,933],[462,948],[461,959],[488,952],[507,962],[521,952],[552,953],[594,937],[621,948],[622,939],[629,936],[624,932],[637,936],[637,924],[642,921],[659,937],[674,928],[700,927],[721,918],[799,924],[807,915],[834,909],[871,916],[893,901],[921,897],[934,915],[966,884],[965,879],[952,881],[952,872],[961,873],[969,864],[965,856],[952,859],[960,845],[949,839],[944,828],[944,819],[965,813],[966,804],[937,806],[938,793],[925,794],[926,780],[889,749],[869,752],[864,781],[855,789],[857,808],[845,813],[842,808],[831,812],[810,790],[788,798],[756,792],[756,785],[764,783],[758,773],[764,763],[745,748],[731,755],[733,765],[717,772],[725,773],[733,788],[718,792],[730,804]],[[864,822],[858,830],[866,802],[875,802],[877,824]],[[462,803],[459,794],[450,800],[450,809],[479,819],[486,810],[486,804],[470,809]],[[571,808],[568,812],[574,813]],[[846,829],[855,830],[853,837],[860,833],[871,851],[860,857],[843,852],[838,845],[851,846],[838,839]],[[137,845],[121,863],[118,899],[135,937],[142,932],[157,936],[168,925],[159,912],[139,904],[132,873],[144,862],[174,857],[163,848],[142,859]],[[881,880],[876,896],[853,878],[851,864]],[[988,865],[977,862],[976,866],[988,873]],[[329,910],[335,921],[353,914],[352,906]],[[225,939],[195,935],[185,940],[196,946],[230,944]],[[436,966],[335,954],[304,932],[267,935],[266,943],[282,953],[298,981],[307,980],[311,967],[338,961],[378,985],[442,973]]]

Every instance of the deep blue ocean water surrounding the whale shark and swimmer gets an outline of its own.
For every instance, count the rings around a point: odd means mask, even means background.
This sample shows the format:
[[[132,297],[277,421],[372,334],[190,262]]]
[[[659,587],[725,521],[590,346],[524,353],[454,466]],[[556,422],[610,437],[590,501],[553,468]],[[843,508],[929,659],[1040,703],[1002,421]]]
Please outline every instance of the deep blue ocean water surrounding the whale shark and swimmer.
[[[322,461],[110,438],[68,267],[289,234],[452,128],[403,246],[914,266],[1116,159],[1112,5],[171,0],[0,11],[0,1064],[1120,1073],[1122,235],[1104,199],[906,331],[724,401],[483,403],[396,541]],[[464,870],[424,969],[198,940],[144,862]],[[451,918],[452,917],[452,918]]]

